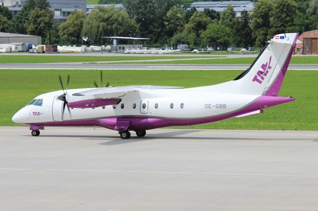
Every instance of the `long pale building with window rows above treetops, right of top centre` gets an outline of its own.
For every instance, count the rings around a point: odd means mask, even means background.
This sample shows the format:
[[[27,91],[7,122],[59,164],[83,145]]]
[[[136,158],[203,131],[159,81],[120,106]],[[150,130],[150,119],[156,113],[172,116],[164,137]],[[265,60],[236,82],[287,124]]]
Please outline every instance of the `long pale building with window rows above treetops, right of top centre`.
[[[195,1],[191,3],[191,7],[195,7],[198,11],[202,11],[205,8],[214,9],[217,12],[222,12],[231,4],[236,12],[236,16],[239,17],[241,11],[251,10],[254,7],[254,3],[248,0],[240,1]]]

